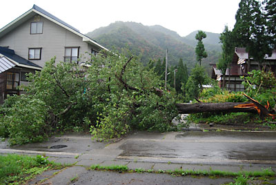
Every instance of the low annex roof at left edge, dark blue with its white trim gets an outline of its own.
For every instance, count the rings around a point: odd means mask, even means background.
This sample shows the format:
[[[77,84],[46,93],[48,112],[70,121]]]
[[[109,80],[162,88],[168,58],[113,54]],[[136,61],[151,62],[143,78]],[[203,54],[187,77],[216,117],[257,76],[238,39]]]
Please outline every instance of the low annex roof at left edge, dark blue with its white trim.
[[[14,50],[3,48],[1,46],[0,46],[0,57],[2,58],[5,57],[6,59],[8,59],[8,61],[12,62],[14,66],[21,66],[25,68],[33,68],[33,69],[41,70],[41,66],[38,66],[37,64],[34,64],[31,61],[28,61],[27,59],[20,57],[19,55],[16,55],[14,53]],[[0,65],[2,66],[2,64]]]

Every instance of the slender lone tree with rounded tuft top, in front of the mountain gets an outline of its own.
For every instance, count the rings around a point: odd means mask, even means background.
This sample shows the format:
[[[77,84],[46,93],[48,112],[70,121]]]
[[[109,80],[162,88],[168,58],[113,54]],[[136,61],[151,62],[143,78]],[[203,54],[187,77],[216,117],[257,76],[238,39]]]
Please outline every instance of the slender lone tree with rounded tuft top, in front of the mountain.
[[[197,35],[195,35],[195,39],[198,40],[197,46],[195,47],[195,54],[197,55],[197,61],[199,61],[199,66],[201,66],[201,60],[208,56],[207,52],[205,51],[204,44],[202,42],[202,39],[205,39],[206,37],[206,33],[201,30],[197,32]]]

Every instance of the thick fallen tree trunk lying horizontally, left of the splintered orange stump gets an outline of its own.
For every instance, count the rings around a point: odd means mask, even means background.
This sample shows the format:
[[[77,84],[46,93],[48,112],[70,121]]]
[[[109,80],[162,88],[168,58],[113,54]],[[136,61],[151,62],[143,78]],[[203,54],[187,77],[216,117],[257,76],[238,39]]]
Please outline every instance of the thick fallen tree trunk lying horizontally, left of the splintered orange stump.
[[[193,113],[257,113],[257,110],[252,103],[197,103],[197,104],[176,104],[179,114],[193,114]],[[235,107],[235,106],[239,106]],[[240,108],[241,106],[247,106]]]

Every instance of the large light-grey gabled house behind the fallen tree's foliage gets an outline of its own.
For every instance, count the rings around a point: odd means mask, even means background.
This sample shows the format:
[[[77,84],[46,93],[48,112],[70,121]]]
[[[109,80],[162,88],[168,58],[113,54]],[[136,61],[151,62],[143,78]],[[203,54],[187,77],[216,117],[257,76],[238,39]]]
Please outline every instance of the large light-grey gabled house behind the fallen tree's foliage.
[[[0,29],[0,46],[0,86],[6,86],[0,88],[0,101],[8,94],[20,94],[15,89],[22,82],[19,79],[24,79],[24,72],[41,70],[52,57],[57,62],[79,62],[81,56],[85,59],[88,53],[107,50],[36,5]]]

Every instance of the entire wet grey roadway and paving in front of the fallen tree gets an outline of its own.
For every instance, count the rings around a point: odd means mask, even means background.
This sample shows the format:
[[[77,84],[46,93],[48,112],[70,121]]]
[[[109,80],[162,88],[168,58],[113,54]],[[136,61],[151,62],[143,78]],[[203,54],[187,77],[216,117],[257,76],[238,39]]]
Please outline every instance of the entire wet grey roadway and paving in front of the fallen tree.
[[[66,147],[52,148],[57,145]],[[139,132],[115,143],[92,141],[89,134],[70,134],[25,146],[10,147],[6,142],[0,143],[0,153],[46,154],[55,162],[76,163],[57,175],[53,175],[56,171],[43,173],[30,184],[45,178],[49,179],[44,184],[221,184],[233,182],[233,179],[88,171],[88,166],[120,164],[133,170],[154,171],[176,168],[262,171],[271,166],[275,171],[275,151],[276,132]],[[77,182],[70,182],[76,175]]]

